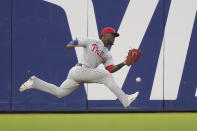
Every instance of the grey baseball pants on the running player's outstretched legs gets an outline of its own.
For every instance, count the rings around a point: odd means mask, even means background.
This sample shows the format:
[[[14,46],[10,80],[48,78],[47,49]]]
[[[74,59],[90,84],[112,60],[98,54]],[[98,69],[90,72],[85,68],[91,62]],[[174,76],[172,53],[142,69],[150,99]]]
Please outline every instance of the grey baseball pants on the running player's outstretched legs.
[[[60,85],[60,87],[45,82],[37,77],[35,77],[33,81],[33,89],[50,93],[58,98],[71,94],[83,83],[104,84],[116,95],[124,107],[128,104],[127,95],[118,87],[112,75],[104,69],[88,68],[85,65],[74,66],[71,68],[67,79]]]

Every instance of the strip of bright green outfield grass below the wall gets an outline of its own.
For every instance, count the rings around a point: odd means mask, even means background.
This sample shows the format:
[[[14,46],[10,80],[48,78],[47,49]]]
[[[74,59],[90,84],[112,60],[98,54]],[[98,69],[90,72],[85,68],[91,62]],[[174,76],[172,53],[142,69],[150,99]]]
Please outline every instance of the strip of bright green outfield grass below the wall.
[[[0,114],[0,131],[197,131],[197,113]]]

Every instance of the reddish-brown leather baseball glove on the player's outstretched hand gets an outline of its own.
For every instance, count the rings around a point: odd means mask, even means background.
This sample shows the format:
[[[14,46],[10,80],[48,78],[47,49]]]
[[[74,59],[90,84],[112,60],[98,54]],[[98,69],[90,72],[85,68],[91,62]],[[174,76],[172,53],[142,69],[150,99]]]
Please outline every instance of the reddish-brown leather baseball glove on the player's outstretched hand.
[[[139,49],[129,50],[128,56],[127,56],[127,58],[125,60],[125,64],[127,66],[130,66],[131,64],[137,62],[140,59],[141,54],[142,54],[142,51],[139,50]]]

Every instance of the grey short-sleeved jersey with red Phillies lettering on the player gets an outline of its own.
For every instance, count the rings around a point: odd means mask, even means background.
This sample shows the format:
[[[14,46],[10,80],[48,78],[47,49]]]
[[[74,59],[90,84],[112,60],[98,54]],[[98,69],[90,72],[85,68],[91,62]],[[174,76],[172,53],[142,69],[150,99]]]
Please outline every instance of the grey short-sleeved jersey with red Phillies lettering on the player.
[[[102,40],[78,40],[78,46],[83,47],[83,59],[79,63],[90,68],[96,68],[100,64],[104,64],[105,67],[113,65],[112,55]]]

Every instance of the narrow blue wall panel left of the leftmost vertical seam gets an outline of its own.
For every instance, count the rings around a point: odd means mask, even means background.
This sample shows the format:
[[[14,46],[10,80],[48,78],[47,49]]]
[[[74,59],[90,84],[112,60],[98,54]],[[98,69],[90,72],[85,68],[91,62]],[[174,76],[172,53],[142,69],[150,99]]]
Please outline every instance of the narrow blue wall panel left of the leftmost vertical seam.
[[[0,1],[0,111],[11,105],[11,0]]]

